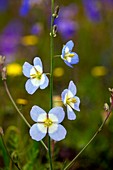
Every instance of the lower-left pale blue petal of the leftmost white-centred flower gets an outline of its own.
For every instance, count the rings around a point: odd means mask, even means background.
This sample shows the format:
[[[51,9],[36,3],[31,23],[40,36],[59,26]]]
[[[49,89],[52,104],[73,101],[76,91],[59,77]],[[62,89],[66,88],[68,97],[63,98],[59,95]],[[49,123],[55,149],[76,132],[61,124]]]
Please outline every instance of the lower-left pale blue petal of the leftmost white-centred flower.
[[[37,89],[38,87],[37,86],[34,86],[32,83],[31,83],[31,80],[28,79],[26,84],[25,84],[25,89],[26,91],[29,93],[29,94],[33,94]]]

